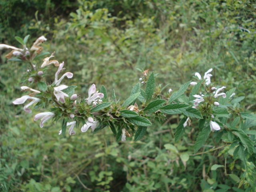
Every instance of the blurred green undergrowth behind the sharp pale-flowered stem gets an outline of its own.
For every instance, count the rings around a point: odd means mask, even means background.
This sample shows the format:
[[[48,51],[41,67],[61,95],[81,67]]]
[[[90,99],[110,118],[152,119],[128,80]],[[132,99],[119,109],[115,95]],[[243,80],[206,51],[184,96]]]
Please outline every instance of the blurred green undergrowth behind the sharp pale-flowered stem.
[[[82,98],[92,83],[127,98],[144,69],[169,84],[167,91],[213,68],[212,82],[236,87],[236,96],[246,96],[241,111],[254,112],[255,8],[249,0],[3,0],[0,40],[18,47],[14,36],[30,34],[30,42],[46,36],[44,49],[74,73],[66,84],[78,86]],[[247,191],[239,186],[241,162],[212,140],[214,133],[197,154],[196,125],[174,142],[182,118],[176,115],[137,142],[117,143],[110,130],[93,136],[78,127],[75,136],[62,138],[60,124],[39,128],[35,110],[24,114],[12,104],[22,96],[17,82],[27,67],[7,62],[7,53],[0,52],[2,191]]]

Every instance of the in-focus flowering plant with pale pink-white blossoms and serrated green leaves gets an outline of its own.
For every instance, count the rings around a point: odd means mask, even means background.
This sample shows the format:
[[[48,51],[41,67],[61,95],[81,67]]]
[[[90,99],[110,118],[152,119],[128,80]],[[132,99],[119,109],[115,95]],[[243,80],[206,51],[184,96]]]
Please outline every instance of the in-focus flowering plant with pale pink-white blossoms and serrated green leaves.
[[[36,59],[49,54],[41,53],[40,45],[46,41],[46,38],[44,36],[38,38],[30,49],[26,45],[28,38],[29,36],[24,39],[16,37],[23,45],[23,49],[5,44],[0,44],[0,48],[12,49],[12,52],[6,55],[9,60],[29,64],[30,69],[24,77],[25,82],[30,82],[32,88],[22,86],[21,90],[32,93],[17,98],[13,104],[24,104],[29,100],[30,103],[24,106],[24,111],[27,113],[32,113],[33,105],[33,110],[48,108],[48,112],[40,112],[34,116],[35,121],[41,119],[41,128],[46,121],[61,121],[59,134],[63,136],[66,135],[67,126],[70,126],[68,130],[70,135],[76,134],[76,128],[81,132],[91,128],[93,134],[104,128],[110,128],[117,142],[126,141],[127,136],[132,137],[134,133],[134,140],[137,141],[144,137],[147,128],[154,121],[180,114],[183,118],[176,128],[174,136],[176,142],[182,138],[185,130],[192,126],[192,123],[198,124],[200,133],[194,144],[194,153],[196,153],[212,131],[216,143],[220,140],[225,143],[223,153],[232,151],[234,161],[240,159],[244,163],[244,180],[241,184],[256,189],[254,179],[256,172],[253,164],[256,153],[253,135],[256,131],[250,129],[255,125],[256,115],[240,112],[239,101],[244,97],[233,99],[235,88],[225,93],[223,92],[225,86],[220,88],[213,86],[210,80],[212,68],[205,72],[204,78],[196,72],[197,82],[186,82],[176,92],[170,88],[165,92],[166,87],[156,88],[154,72],[149,74],[149,70],[143,70],[140,82],[133,86],[130,96],[124,101],[116,98],[114,90],[109,96],[104,86],[97,90],[95,84],[90,86],[88,97],[84,98],[75,93],[76,86],[67,86],[62,82],[65,77],[73,77],[71,72],[64,73],[58,79],[65,68],[63,68],[64,62],[50,60],[54,57],[54,53],[46,57],[41,65],[36,63]],[[55,79],[54,82],[46,82],[44,75],[52,64],[58,67]],[[51,69],[55,70],[54,67]],[[188,89],[190,89],[189,94]]]

